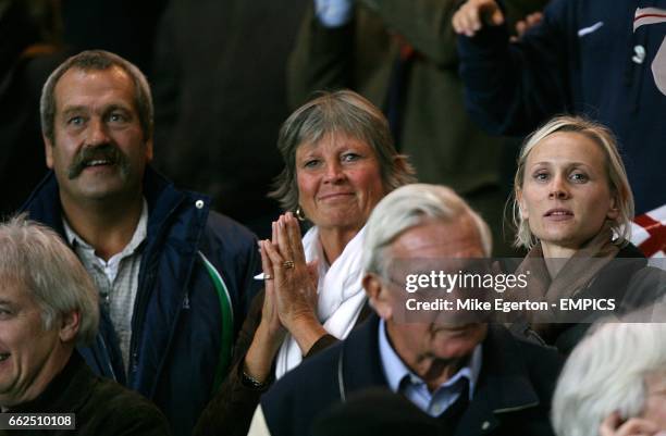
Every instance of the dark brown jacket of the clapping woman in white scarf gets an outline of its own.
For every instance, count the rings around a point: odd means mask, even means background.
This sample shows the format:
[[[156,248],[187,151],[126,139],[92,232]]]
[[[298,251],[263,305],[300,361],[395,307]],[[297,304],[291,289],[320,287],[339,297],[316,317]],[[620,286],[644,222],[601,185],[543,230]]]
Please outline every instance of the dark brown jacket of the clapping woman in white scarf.
[[[243,362],[247,350],[252,344],[255,332],[261,323],[261,309],[263,307],[263,291],[259,292],[252,301],[243,328],[238,334],[236,348],[234,349],[234,364],[230,370],[219,394],[210,401],[197,423],[194,434],[196,436],[245,436],[252,421],[252,413],[259,404],[261,395],[273,384],[269,378],[267,386],[262,389],[255,388],[243,382]],[[356,326],[362,323],[371,313],[366,303],[356,321]],[[331,347],[338,340],[332,335],[319,338],[308,350],[304,361],[316,356],[320,351]],[[274,362],[273,362],[274,363]],[[271,374],[274,373],[274,368]]]

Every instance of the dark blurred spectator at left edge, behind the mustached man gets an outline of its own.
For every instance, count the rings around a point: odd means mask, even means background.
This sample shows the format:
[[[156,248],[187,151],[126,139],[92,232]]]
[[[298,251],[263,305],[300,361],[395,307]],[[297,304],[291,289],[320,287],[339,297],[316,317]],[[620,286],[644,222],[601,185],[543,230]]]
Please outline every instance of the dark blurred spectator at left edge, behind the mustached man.
[[[0,216],[46,175],[39,94],[64,54],[51,0],[0,0]]]

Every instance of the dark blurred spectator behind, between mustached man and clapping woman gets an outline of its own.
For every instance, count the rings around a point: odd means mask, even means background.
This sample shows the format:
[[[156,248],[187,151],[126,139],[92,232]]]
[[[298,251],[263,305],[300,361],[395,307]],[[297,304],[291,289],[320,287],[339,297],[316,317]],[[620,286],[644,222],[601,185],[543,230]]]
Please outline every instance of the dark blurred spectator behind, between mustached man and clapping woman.
[[[172,0],[156,42],[156,165],[270,235],[286,57],[306,0]]]

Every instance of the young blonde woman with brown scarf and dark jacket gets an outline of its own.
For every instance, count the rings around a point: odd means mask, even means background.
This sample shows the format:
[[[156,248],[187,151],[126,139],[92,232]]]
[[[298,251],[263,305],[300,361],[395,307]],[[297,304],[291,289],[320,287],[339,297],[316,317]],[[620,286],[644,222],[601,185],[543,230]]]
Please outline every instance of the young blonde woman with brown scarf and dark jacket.
[[[514,223],[516,246],[529,250],[518,270],[530,272],[530,299],[613,299],[615,313],[652,300],[661,277],[628,241],[632,217],[625,165],[606,127],[558,116],[527,139],[515,177]],[[580,324],[540,324],[532,314],[532,322],[513,329],[568,353],[599,313]]]

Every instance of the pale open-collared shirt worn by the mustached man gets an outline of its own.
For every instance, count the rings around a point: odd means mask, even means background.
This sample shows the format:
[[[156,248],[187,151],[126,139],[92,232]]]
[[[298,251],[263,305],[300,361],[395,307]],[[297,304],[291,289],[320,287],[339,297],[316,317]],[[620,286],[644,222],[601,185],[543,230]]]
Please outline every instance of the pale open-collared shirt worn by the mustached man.
[[[132,340],[132,315],[138,290],[138,273],[141,264],[143,242],[148,229],[148,203],[144,199],[141,216],[134,235],[125,248],[104,261],[95,253],[95,247],[83,240],[63,216],[67,241],[84,264],[99,291],[102,306],[109,311],[113,328],[119,338],[123,364],[127,371],[130,342]]]

